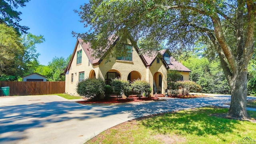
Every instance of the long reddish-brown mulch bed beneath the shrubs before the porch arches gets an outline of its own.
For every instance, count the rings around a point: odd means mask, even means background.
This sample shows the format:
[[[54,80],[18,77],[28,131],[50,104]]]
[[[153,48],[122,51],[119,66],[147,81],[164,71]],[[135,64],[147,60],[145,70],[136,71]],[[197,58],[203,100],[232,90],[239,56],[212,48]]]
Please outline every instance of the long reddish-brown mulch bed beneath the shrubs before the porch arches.
[[[79,104],[112,104],[112,103],[125,103],[125,102],[144,102],[149,100],[159,100],[159,98],[137,98],[137,97],[129,97],[129,98],[116,98],[110,97],[108,100],[83,100],[77,101]]]

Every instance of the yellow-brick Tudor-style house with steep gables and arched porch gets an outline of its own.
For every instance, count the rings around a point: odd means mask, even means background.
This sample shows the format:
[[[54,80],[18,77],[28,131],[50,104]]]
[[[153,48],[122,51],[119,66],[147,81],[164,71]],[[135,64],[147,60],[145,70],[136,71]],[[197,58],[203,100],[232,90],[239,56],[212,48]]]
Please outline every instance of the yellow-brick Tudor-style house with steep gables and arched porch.
[[[116,48],[110,48],[110,52]],[[188,68],[177,62],[170,56],[168,50],[161,50],[160,56],[139,55],[138,48],[127,44],[130,49],[126,56],[94,58],[90,44],[83,42],[82,39],[76,41],[72,58],[65,69],[65,92],[72,95],[76,93],[78,82],[86,78],[101,78],[109,84],[111,79],[121,78],[122,80],[141,79],[149,82],[152,87],[152,94],[164,94],[167,88],[167,70],[177,70],[182,74],[181,80],[189,80]],[[109,53],[108,53],[109,54]]]

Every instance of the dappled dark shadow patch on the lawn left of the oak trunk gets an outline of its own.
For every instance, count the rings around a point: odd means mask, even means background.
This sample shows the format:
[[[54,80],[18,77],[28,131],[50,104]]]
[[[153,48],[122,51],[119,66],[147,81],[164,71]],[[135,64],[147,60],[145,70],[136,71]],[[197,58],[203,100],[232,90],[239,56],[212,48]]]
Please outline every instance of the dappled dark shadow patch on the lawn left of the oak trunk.
[[[233,132],[238,120],[209,116],[226,113],[223,108],[202,108],[179,111],[142,120],[142,125],[161,134],[195,134],[197,136],[218,135]]]

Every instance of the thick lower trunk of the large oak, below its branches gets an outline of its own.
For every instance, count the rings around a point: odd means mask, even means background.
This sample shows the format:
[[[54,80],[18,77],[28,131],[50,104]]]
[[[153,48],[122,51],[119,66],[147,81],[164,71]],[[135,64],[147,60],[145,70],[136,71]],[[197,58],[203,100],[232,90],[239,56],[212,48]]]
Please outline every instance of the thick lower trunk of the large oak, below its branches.
[[[228,115],[236,118],[247,118],[247,70],[239,70],[230,82],[231,103]]]

